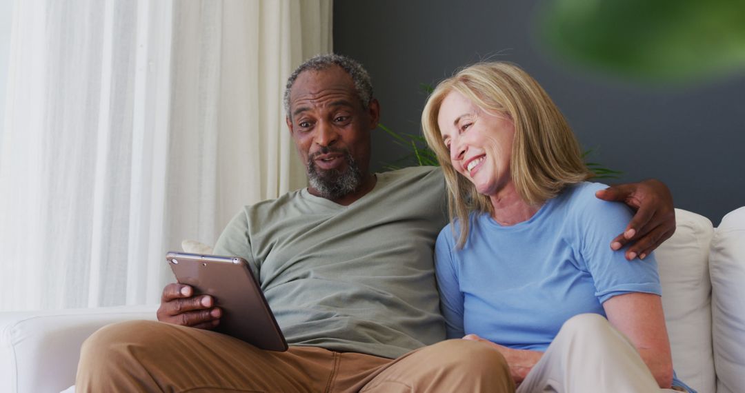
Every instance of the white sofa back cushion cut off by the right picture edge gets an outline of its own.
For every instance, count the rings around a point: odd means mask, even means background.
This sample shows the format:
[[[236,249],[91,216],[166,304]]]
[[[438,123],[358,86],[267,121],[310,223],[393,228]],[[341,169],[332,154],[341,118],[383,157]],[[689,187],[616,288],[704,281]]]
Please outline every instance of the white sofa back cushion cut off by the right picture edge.
[[[745,207],[724,216],[709,255],[717,392],[745,387]]]

